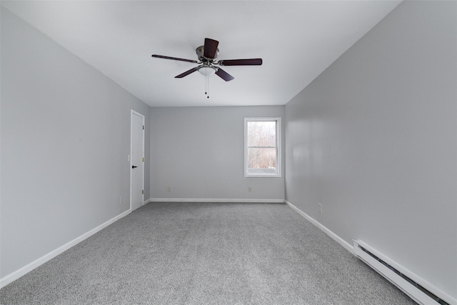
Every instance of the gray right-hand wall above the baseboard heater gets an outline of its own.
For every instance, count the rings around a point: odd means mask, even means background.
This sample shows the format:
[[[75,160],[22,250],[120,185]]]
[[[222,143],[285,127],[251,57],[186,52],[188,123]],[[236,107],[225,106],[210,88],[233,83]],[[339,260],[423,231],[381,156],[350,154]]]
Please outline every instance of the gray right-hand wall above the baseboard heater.
[[[455,1],[404,1],[286,104],[285,124],[286,200],[454,299],[456,17]]]

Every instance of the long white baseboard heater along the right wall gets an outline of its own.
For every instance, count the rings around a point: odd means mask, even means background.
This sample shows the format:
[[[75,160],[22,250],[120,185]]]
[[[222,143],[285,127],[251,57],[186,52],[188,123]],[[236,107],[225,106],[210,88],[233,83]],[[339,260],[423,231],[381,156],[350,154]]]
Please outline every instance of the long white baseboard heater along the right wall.
[[[399,271],[398,267],[396,268],[393,266],[396,264],[363,243],[363,241],[353,241],[353,244],[353,253],[355,256],[365,262],[368,266],[371,266],[371,268],[388,279],[388,281],[391,281],[392,284],[397,286],[398,289],[401,289],[401,291],[418,304],[450,305],[429,289],[425,288],[425,285],[421,285],[418,281],[412,279],[414,276],[411,276],[411,274],[407,275],[404,271]]]

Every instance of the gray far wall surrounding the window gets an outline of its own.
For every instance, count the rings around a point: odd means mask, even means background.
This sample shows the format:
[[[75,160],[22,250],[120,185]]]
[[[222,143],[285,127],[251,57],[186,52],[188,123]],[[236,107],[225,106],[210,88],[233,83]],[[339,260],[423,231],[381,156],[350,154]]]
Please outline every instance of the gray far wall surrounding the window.
[[[243,171],[244,117],[283,113],[283,106],[152,108],[151,197],[283,200],[284,175]]]

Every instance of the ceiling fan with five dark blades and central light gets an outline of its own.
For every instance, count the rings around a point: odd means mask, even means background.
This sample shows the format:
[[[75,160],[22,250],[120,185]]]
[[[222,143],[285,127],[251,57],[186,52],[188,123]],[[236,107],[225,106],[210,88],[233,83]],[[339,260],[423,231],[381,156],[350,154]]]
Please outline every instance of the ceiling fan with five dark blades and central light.
[[[197,56],[199,56],[199,61],[191,59],[179,59],[176,57],[162,56],[153,54],[152,57],[159,59],[172,59],[176,61],[187,61],[194,64],[200,64],[195,68],[192,68],[182,74],[175,76],[176,79],[181,79],[184,76],[188,76],[195,71],[199,71],[204,76],[210,76],[216,74],[217,76],[224,79],[224,81],[231,81],[233,76],[228,74],[226,71],[221,69],[219,66],[260,66],[262,64],[262,59],[225,59],[217,60],[219,54],[219,49],[217,46],[219,41],[214,39],[205,38],[204,46],[199,46],[195,51]]]

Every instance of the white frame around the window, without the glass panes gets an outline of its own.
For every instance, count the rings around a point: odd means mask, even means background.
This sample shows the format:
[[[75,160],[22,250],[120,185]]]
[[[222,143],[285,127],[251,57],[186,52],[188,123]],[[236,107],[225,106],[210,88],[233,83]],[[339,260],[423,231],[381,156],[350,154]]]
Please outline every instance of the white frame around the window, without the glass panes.
[[[276,121],[276,173],[248,172],[248,121]],[[281,177],[281,117],[244,118],[244,177],[280,178]]]

